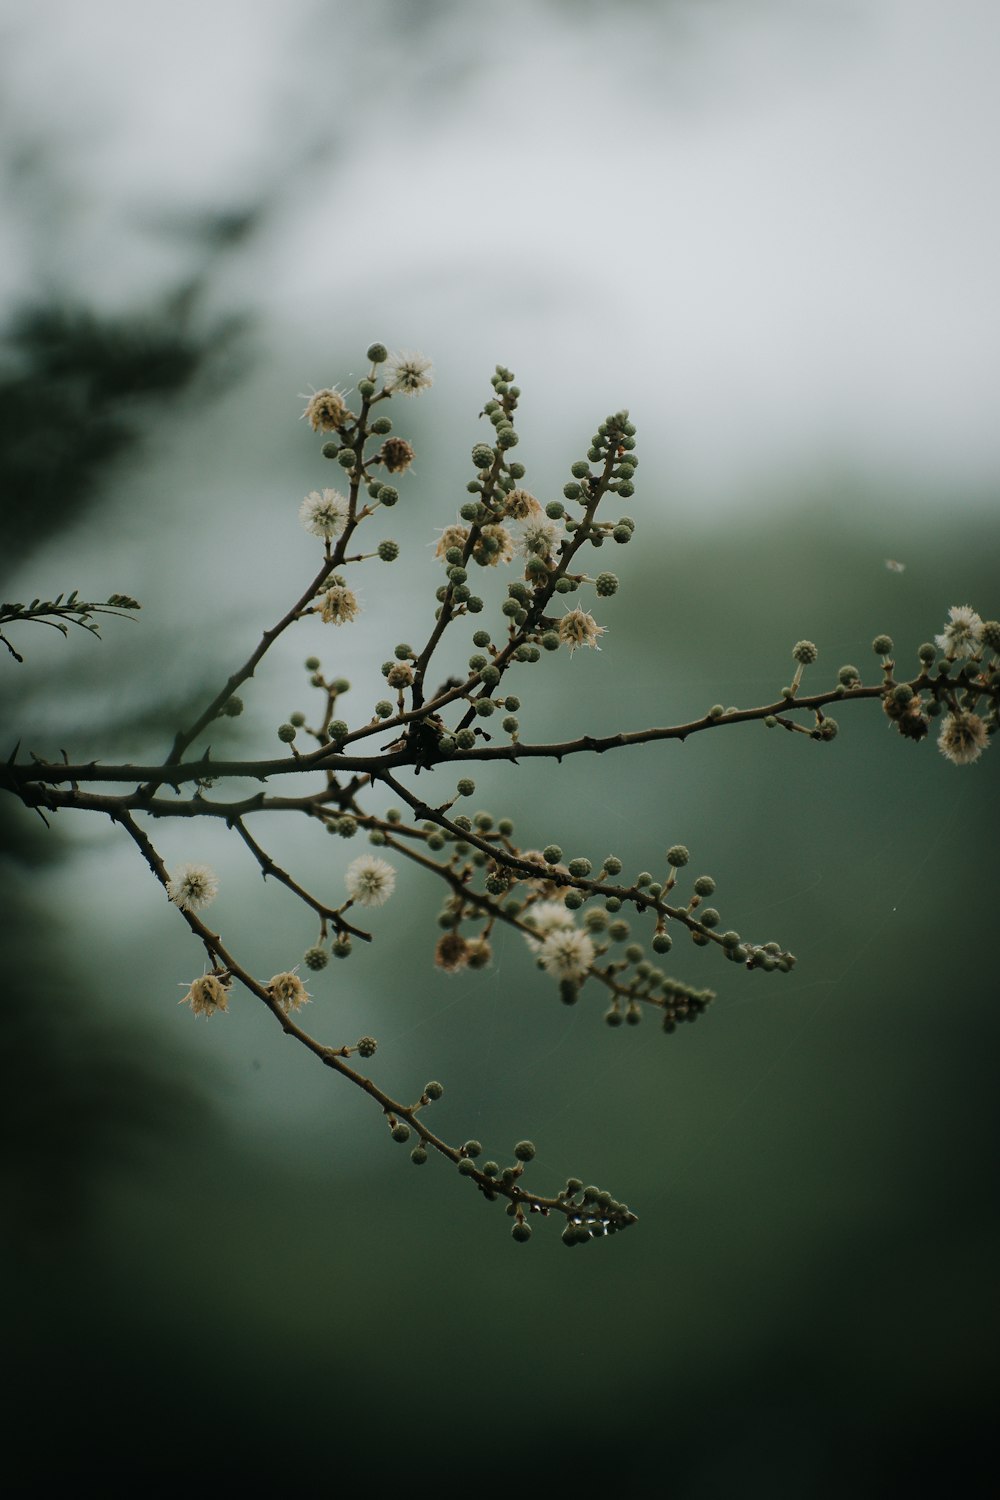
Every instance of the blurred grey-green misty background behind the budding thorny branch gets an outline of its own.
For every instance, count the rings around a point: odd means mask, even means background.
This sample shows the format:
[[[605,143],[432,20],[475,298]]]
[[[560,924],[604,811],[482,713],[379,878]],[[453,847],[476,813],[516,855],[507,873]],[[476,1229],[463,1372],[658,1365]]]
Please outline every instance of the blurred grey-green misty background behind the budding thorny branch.
[[[997,615],[987,0],[7,0],[0,40],[0,590],[142,602],[102,642],[12,633],[4,754],[165,753],[309,576],[297,508],[334,480],[303,393],[373,339],[435,362],[393,410],[403,555],[367,566],[349,639],[282,640],[216,754],[271,753],[310,651],[367,718],[432,618],[496,362],[543,500],[607,411],[639,429],[603,650],[517,684],[528,738],[768,700],[804,636],[817,681],[870,675],[877,632],[909,670],[951,604]],[[412,870],[312,984],[312,1029],[376,1035],[381,1084],[445,1083],[447,1138],[529,1136],[540,1185],[640,1215],[573,1256],[414,1172],[262,1008],[178,1010],[201,957],[112,830],[0,806],[15,1460],[306,1492],[502,1464],[693,1500],[972,1473],[997,752],[957,770],[874,706],[838,718],[831,746],[747,726],[477,774],[525,843],[631,870],[687,843],[724,924],[798,954],[766,976],[676,948],[720,994],[697,1026],[609,1030],[513,938],[447,980]],[[360,852],[255,831],[331,891]],[[154,837],[219,872],[250,969],[313,942],[219,830]]]

